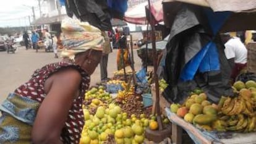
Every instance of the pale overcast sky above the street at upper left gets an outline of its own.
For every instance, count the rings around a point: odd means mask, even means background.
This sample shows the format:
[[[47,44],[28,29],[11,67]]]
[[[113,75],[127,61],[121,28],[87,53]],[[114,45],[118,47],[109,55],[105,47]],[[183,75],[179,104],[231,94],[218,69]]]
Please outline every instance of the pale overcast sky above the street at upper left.
[[[1,0],[0,2],[0,27],[29,25],[28,16],[31,21],[33,20],[32,6],[35,7],[35,16],[39,17],[38,0]]]

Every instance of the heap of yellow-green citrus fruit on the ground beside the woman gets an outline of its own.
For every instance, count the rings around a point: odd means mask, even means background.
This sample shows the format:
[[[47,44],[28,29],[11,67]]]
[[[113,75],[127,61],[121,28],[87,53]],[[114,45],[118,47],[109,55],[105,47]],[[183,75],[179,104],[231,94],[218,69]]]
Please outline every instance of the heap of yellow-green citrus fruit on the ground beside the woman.
[[[147,127],[158,129],[156,117],[146,117],[145,114],[128,116],[116,104],[98,106],[95,114],[83,109],[85,125],[80,139],[81,144],[88,143],[143,143],[144,132]],[[166,122],[166,121],[165,121]]]

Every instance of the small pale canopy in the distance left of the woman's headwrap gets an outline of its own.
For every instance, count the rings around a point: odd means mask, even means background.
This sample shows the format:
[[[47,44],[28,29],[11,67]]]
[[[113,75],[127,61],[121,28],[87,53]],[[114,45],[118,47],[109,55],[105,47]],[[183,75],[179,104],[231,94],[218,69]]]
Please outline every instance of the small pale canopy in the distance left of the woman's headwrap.
[[[61,23],[62,19],[67,17],[66,14],[63,15],[55,15],[53,17],[40,17],[39,19],[34,20],[31,24],[32,25],[45,25],[45,24],[54,24],[54,23]]]

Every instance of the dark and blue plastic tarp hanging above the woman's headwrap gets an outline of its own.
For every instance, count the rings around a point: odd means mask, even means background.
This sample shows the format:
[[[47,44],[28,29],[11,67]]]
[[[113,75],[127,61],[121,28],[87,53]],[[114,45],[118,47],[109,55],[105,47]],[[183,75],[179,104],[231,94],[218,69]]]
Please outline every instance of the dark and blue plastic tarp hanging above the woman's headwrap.
[[[112,18],[122,19],[127,10],[127,0],[66,0],[65,5],[69,17],[75,15],[105,31],[112,30]]]

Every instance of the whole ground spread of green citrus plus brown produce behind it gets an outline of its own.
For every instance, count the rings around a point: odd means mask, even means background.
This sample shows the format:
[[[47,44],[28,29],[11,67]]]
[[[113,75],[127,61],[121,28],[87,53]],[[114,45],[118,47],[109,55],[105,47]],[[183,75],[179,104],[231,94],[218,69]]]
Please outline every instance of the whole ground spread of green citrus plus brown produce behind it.
[[[113,98],[106,92],[106,85],[121,85],[123,90],[118,90]],[[143,108],[142,96],[134,93],[134,85],[120,80],[110,80],[106,85],[85,93],[85,125],[80,144],[143,143],[146,128],[158,129],[156,116],[150,114],[150,108]],[[169,124],[166,117],[162,118],[164,124]]]

